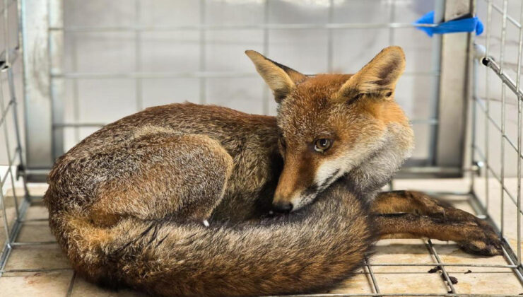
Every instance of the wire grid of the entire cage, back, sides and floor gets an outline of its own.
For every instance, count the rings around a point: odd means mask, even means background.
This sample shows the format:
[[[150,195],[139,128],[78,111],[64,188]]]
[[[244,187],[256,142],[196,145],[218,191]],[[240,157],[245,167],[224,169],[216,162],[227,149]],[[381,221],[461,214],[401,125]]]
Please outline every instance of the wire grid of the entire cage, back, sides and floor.
[[[50,0],[53,1],[53,0]],[[503,211],[504,204],[509,203],[513,204],[514,208],[517,210],[517,243],[514,245],[511,245],[507,242],[507,240],[503,240],[503,252],[504,252],[504,258],[506,260],[506,264],[478,264],[478,263],[460,263],[460,264],[454,264],[454,263],[447,263],[442,260],[442,257],[440,257],[440,254],[437,252],[437,245],[433,244],[432,240],[425,240],[425,246],[427,248],[427,253],[430,255],[430,258],[433,260],[433,262],[424,262],[424,263],[380,263],[380,262],[370,262],[369,260],[365,260],[365,267],[364,271],[360,272],[365,274],[366,277],[368,277],[368,280],[370,284],[372,285],[373,293],[324,293],[324,294],[315,294],[315,295],[307,295],[307,296],[470,296],[470,294],[463,294],[459,293],[459,290],[452,284],[452,281],[449,276],[449,272],[447,269],[449,267],[490,267],[490,268],[498,268],[498,269],[506,269],[507,271],[511,271],[517,276],[517,279],[522,282],[523,284],[523,270],[522,270],[522,262],[521,262],[521,217],[520,214],[523,214],[521,209],[521,160],[522,160],[522,100],[523,100],[523,92],[520,90],[520,69],[521,69],[521,63],[522,63],[522,40],[523,40],[523,8],[519,16],[519,21],[517,21],[516,18],[513,16],[510,16],[507,7],[508,7],[508,0],[503,0],[503,6],[498,6],[497,4],[493,3],[492,0],[478,0],[483,1],[487,5],[487,20],[486,20],[486,44],[485,44],[485,51],[484,52],[476,52],[475,55],[477,57],[477,61],[474,64],[474,67],[477,69],[478,67],[487,67],[488,71],[486,72],[486,90],[484,98],[486,100],[482,100],[480,97],[481,95],[478,94],[476,90],[476,86],[473,87],[473,93],[471,96],[471,125],[473,127],[472,129],[472,135],[471,135],[471,155],[473,156],[471,163],[469,164],[468,169],[469,171],[472,171],[469,176],[470,181],[470,191],[466,193],[431,193],[435,195],[445,196],[446,194],[454,194],[454,195],[463,195],[464,197],[467,197],[469,199],[469,203],[474,208],[476,213],[479,216],[483,216],[485,219],[487,219],[493,226],[495,226],[498,233],[500,233],[500,236],[504,235],[504,229],[505,226],[503,225],[504,217],[507,215]],[[201,7],[204,7],[205,5],[204,0],[201,0]],[[1,253],[0,257],[0,277],[5,276],[6,274],[12,274],[17,272],[35,272],[35,273],[47,273],[47,272],[53,272],[57,270],[64,270],[64,269],[55,269],[55,268],[45,268],[45,267],[39,267],[35,269],[16,269],[16,268],[10,268],[6,269],[6,264],[9,260],[9,256],[11,255],[11,252],[19,248],[20,246],[32,246],[35,248],[38,248],[42,245],[52,245],[56,244],[54,241],[52,242],[27,242],[27,241],[20,241],[18,240],[18,235],[20,233],[20,228],[25,223],[29,223],[30,221],[37,220],[42,221],[45,219],[25,219],[25,214],[28,208],[38,202],[41,202],[41,197],[33,197],[29,194],[28,191],[28,182],[25,180],[25,166],[24,166],[24,159],[23,159],[23,150],[22,145],[20,141],[20,127],[18,125],[18,111],[17,111],[17,98],[14,90],[14,82],[13,82],[13,67],[11,66],[13,62],[16,62],[16,59],[18,56],[20,56],[20,47],[17,45],[14,48],[9,47],[9,32],[8,32],[8,26],[6,25],[8,23],[9,18],[13,18],[15,16],[11,16],[9,14],[9,10],[7,9],[11,5],[16,5],[18,7],[17,11],[20,15],[20,11],[23,9],[23,3],[24,1],[10,1],[10,0],[4,0],[4,9],[1,11],[2,18],[4,21],[4,52],[1,54],[0,57],[4,57],[4,62],[2,62],[1,65],[1,73],[0,73],[0,111],[1,111],[1,117],[0,117],[0,129],[4,129],[4,139],[7,146],[7,160],[8,160],[8,166],[6,173],[1,176],[0,180],[0,203],[1,203],[1,211],[3,212],[3,224],[4,224],[4,247]],[[141,1],[136,0],[136,16],[139,16],[140,11],[140,4]],[[322,28],[327,30],[328,33],[328,42],[327,42],[327,48],[329,49],[327,52],[329,53],[329,57],[327,59],[328,65],[327,69],[332,69],[332,30],[336,30],[337,28],[350,28],[350,29],[363,29],[363,28],[389,28],[391,30],[390,36],[390,43],[394,43],[394,33],[393,30],[396,28],[411,28],[413,25],[411,23],[396,23],[393,19],[389,20],[390,23],[370,23],[370,24],[364,24],[364,23],[346,23],[346,24],[340,24],[340,23],[331,23],[331,16],[332,16],[332,8],[334,7],[334,0],[330,0],[330,11],[329,11],[329,23],[327,24],[271,24],[268,23],[268,6],[270,1],[264,1],[265,4],[265,15],[264,15],[264,24],[260,25],[235,25],[234,27],[237,29],[242,28],[260,28],[264,31],[264,53],[268,51],[268,40],[269,40],[269,29],[278,29],[278,28],[287,28],[287,29],[298,29],[298,28]],[[500,46],[500,59],[496,61],[496,59],[492,56],[492,50],[490,48],[490,38],[492,35],[492,16],[493,13],[498,13],[502,18],[502,32],[501,32],[501,46]],[[133,27],[114,27],[114,28],[88,28],[88,27],[75,27],[75,28],[65,28],[58,23],[54,23],[56,20],[53,21],[54,16],[49,16],[49,24],[53,24],[49,30],[50,31],[69,31],[69,32],[83,32],[83,31],[102,31],[102,30],[130,30],[131,32],[134,32],[136,35],[136,40],[140,39],[140,35],[143,31],[146,30],[198,30],[199,34],[201,35],[201,40],[204,40],[204,36],[206,34],[207,30],[220,30],[223,28],[231,28],[232,25],[228,26],[216,26],[216,25],[206,25],[205,23],[205,13],[204,8],[201,8],[201,24],[200,25],[194,25],[194,26],[181,26],[176,28],[167,28],[167,27],[161,27],[161,28],[150,28],[146,26],[140,26],[136,25]],[[19,25],[21,26],[21,21],[19,22]],[[513,78],[509,76],[505,70],[505,57],[504,57],[504,51],[505,51],[505,42],[506,42],[506,32],[507,32],[507,25],[513,25],[516,28],[519,29],[519,44],[518,44],[518,53],[517,53],[517,76],[516,78]],[[21,36],[21,31],[18,30],[18,34],[20,35],[18,40],[22,40],[23,36]],[[51,36],[52,34],[49,34]],[[52,37],[49,37],[52,38]],[[205,90],[205,83],[206,78],[209,77],[216,77],[216,76],[245,76],[245,75],[252,75],[252,74],[244,74],[244,73],[212,73],[206,71],[206,65],[205,65],[205,50],[206,45],[205,42],[201,42],[201,52],[200,54],[200,66],[199,71],[194,73],[163,73],[163,74],[155,74],[155,73],[148,73],[145,71],[142,71],[141,64],[142,61],[140,60],[140,55],[136,55],[136,71],[132,73],[114,73],[114,74],[96,74],[96,73],[80,73],[80,72],[72,72],[72,73],[50,73],[49,76],[52,78],[66,78],[66,79],[76,79],[76,78],[105,78],[105,77],[119,77],[119,78],[129,78],[136,81],[136,88],[139,90],[141,88],[141,81],[143,79],[151,78],[151,77],[194,77],[199,78],[200,80],[200,102],[206,103],[206,90]],[[136,42],[136,52],[141,51],[141,47],[139,42]],[[78,57],[74,57],[74,59],[78,59]],[[481,81],[478,80],[476,77],[476,73],[478,71],[474,71],[474,84],[481,83]],[[432,71],[425,73],[425,75],[435,75],[438,74],[433,73]],[[409,74],[407,74],[409,75]],[[412,73],[410,75],[420,75],[419,73]],[[421,74],[423,75],[423,74]],[[501,93],[501,105],[502,105],[502,117],[501,121],[498,122],[495,120],[494,117],[490,116],[490,112],[492,111],[493,107],[490,106],[489,103],[489,90],[488,86],[493,80],[499,80],[499,83],[502,85],[502,93]],[[4,98],[4,88],[7,88],[9,98]],[[76,87],[77,88],[77,87]],[[505,97],[506,92],[512,92],[515,93],[517,96],[517,141],[514,143],[510,139],[510,137],[507,136],[505,131]],[[74,92],[75,94],[78,94],[78,91]],[[136,92],[136,109],[141,110],[143,107],[143,98],[141,98],[141,92]],[[74,102],[78,102],[78,98],[73,98]],[[266,89],[264,89],[264,100],[269,100],[269,93]],[[484,102],[483,102],[484,101]],[[78,120],[78,105],[75,105],[75,119]],[[264,104],[264,109],[268,109],[268,103]],[[477,116],[479,114],[484,115],[484,121],[478,122]],[[13,126],[8,127],[7,119],[8,115],[11,115],[13,118]],[[432,122],[433,123],[433,122]],[[78,134],[78,128],[79,127],[101,127],[102,123],[81,123],[81,122],[73,122],[73,123],[67,123],[67,122],[61,122],[61,123],[54,123],[53,129],[62,129],[64,127],[74,127],[76,129],[75,136],[76,140],[79,139]],[[507,149],[512,149],[517,153],[517,194],[514,195],[512,192],[510,192],[507,189],[507,185],[505,185],[505,167],[504,162],[502,161],[502,167],[500,174],[495,172],[495,169],[493,168],[493,165],[489,163],[492,160],[492,155],[489,152],[488,143],[492,139],[489,139],[489,131],[494,127],[498,132],[501,134],[501,138],[499,140],[499,144],[501,146],[501,158],[504,158],[505,151]],[[476,137],[476,130],[483,128],[483,133],[486,135],[484,137],[485,143],[483,144],[485,149],[481,149],[481,144],[478,144],[478,137]],[[16,139],[16,146],[15,150],[11,150],[11,146],[9,144],[10,137],[9,134],[13,135]],[[15,170],[15,167],[18,168]],[[467,168],[466,168],[467,169]],[[477,177],[476,171],[477,170],[483,170],[483,177]],[[16,172],[18,171],[18,172]],[[23,189],[20,189],[16,187],[15,180],[20,177],[23,180]],[[484,179],[485,181],[485,189],[484,189],[484,197],[485,199],[481,199],[478,197],[478,192],[476,191],[476,184],[478,183],[478,179]],[[500,224],[496,223],[495,220],[492,219],[492,217],[489,215],[489,197],[491,194],[490,190],[490,182],[494,178],[495,182],[498,182],[500,185],[500,203],[501,206],[501,220]],[[10,181],[10,182],[8,182]],[[6,214],[6,192],[8,190],[11,190],[11,195],[13,199],[13,204],[16,209],[16,214],[13,222],[9,222],[7,219]],[[11,198],[11,197],[10,197]],[[507,201],[508,200],[508,201]],[[374,272],[373,267],[399,267],[401,269],[407,268],[407,267],[438,267],[442,272],[442,283],[444,284],[447,291],[442,292],[435,292],[435,293],[387,293],[382,290],[380,290],[380,284],[379,281],[377,281],[376,274]],[[71,270],[71,269],[69,269]],[[71,279],[69,281],[69,289],[66,292],[66,296],[70,296],[73,290],[74,281],[76,279],[76,274],[72,274]],[[304,295],[300,295],[304,296]],[[493,295],[493,296],[507,296],[507,295]]]

